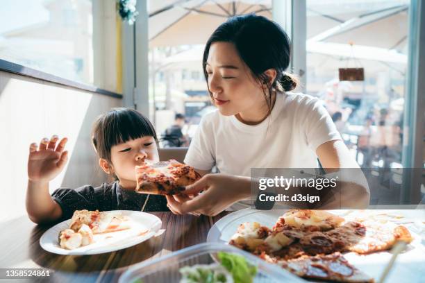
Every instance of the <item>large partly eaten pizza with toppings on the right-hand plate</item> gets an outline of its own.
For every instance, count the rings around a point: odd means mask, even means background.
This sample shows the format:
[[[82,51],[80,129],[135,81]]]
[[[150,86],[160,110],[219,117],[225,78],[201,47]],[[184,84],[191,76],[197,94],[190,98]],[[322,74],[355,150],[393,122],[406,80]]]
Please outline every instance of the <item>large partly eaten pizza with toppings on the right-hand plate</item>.
[[[365,255],[389,250],[397,241],[412,241],[402,225],[349,221],[326,211],[292,209],[279,217],[272,229],[260,223],[242,223],[229,243],[301,277],[373,282],[340,252]]]

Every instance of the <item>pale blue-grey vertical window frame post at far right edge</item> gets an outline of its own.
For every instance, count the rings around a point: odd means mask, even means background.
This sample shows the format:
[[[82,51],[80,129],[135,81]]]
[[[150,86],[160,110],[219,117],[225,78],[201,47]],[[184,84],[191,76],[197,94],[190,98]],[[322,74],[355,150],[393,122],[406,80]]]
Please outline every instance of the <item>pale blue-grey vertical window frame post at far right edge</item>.
[[[410,169],[403,174],[401,200],[409,204],[420,200],[424,175],[424,110],[425,110],[425,4],[410,0],[409,8],[408,71],[406,100],[404,104],[403,168]]]

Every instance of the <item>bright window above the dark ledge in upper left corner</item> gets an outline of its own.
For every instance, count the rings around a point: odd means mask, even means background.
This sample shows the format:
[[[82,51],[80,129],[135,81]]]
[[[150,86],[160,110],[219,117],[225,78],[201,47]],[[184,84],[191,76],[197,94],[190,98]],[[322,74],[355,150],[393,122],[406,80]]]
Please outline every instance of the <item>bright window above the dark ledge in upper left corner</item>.
[[[0,59],[122,92],[115,0],[5,0]]]

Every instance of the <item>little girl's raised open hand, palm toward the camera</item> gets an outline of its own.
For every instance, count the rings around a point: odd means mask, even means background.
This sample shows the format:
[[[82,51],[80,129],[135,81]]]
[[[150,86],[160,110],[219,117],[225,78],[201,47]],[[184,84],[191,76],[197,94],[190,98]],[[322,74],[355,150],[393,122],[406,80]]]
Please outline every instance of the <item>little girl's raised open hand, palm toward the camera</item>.
[[[42,139],[40,146],[30,145],[28,157],[28,179],[33,182],[49,182],[63,170],[67,162],[68,152],[63,151],[67,138],[58,142],[58,136],[53,135],[50,141]]]

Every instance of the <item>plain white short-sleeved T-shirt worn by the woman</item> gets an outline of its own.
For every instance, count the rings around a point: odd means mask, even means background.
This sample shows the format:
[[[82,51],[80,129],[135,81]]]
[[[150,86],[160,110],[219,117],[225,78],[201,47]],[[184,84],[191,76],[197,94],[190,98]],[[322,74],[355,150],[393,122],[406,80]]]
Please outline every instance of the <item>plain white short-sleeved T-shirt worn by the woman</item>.
[[[185,163],[199,170],[250,176],[251,168],[316,168],[316,149],[341,139],[319,99],[277,94],[272,113],[256,126],[215,111],[201,120]]]

